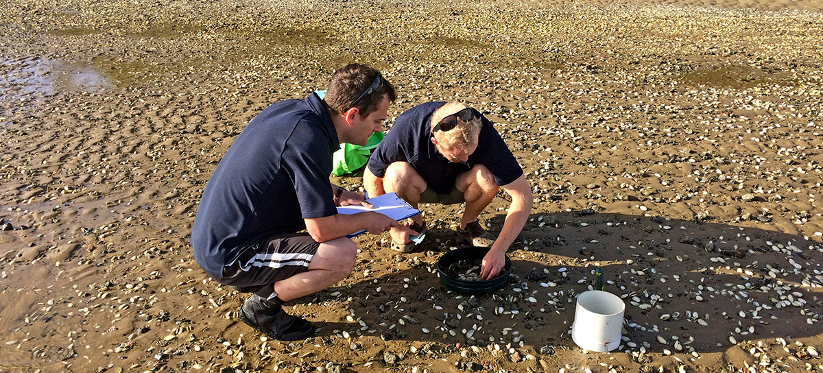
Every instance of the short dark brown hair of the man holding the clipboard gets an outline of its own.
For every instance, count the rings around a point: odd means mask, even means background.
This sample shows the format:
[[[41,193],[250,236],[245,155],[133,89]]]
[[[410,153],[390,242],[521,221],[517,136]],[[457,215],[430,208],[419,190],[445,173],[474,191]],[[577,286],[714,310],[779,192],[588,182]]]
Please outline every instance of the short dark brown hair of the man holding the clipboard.
[[[383,85],[377,91],[354,102],[358,96],[369,89],[379,73],[374,68],[360,63],[350,63],[334,72],[332,81],[328,82],[326,96],[323,98],[328,109],[337,114],[343,114],[346,110],[356,107],[360,110],[361,117],[367,117],[377,110],[377,105],[383,100],[384,95],[388,96],[389,101],[397,100],[392,83],[381,77]]]

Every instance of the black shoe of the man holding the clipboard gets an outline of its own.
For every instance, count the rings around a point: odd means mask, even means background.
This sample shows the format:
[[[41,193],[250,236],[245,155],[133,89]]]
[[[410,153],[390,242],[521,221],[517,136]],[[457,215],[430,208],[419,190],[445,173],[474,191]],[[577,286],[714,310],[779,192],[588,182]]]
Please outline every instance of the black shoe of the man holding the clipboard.
[[[296,341],[314,333],[307,320],[286,314],[281,305],[263,300],[257,294],[240,307],[240,319],[260,333],[279,341]]]

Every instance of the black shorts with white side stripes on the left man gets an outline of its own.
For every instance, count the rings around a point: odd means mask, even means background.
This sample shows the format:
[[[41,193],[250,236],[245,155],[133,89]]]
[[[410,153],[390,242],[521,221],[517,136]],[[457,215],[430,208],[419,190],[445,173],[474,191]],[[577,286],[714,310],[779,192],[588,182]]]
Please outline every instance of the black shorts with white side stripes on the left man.
[[[223,268],[220,282],[267,298],[274,292],[275,282],[308,271],[319,246],[308,233],[270,235]]]

